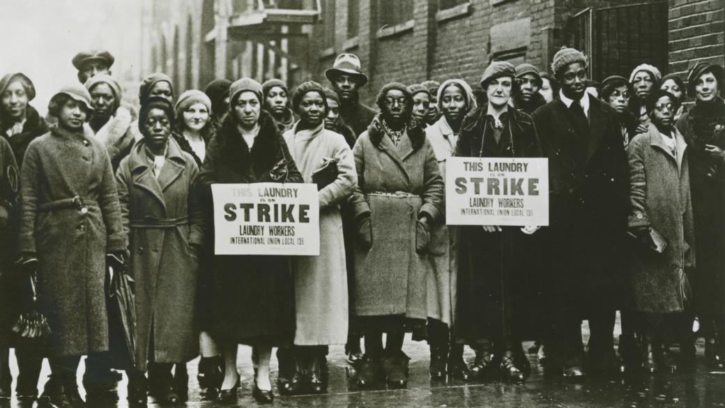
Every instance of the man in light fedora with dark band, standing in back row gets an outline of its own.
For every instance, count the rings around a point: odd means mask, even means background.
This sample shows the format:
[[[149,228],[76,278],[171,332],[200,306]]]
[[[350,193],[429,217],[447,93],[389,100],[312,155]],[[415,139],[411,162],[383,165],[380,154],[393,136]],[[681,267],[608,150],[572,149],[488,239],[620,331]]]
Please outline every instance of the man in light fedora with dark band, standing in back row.
[[[360,67],[360,59],[355,54],[339,54],[332,68],[325,76],[340,97],[340,116],[359,136],[368,129],[377,113],[372,107],[360,103],[358,90],[368,83],[368,76]]]

